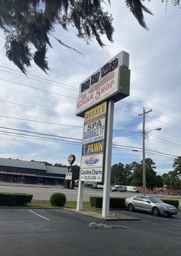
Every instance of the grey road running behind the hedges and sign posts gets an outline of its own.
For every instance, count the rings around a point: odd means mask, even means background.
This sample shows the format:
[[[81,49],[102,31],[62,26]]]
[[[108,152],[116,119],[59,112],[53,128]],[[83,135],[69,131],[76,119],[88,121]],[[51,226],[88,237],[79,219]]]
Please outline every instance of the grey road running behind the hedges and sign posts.
[[[26,184],[11,184],[0,183],[0,192],[10,192],[10,193],[30,193],[33,194],[33,199],[49,200],[52,193],[62,192],[65,193],[67,200],[77,201],[77,189],[63,189],[58,186],[31,186]],[[134,195],[139,195],[139,193],[134,194],[131,192],[111,192],[113,197],[130,197]],[[84,201],[89,201],[90,196],[102,196],[102,190],[95,190],[90,188],[84,188]],[[168,197],[168,196],[167,196]],[[175,196],[174,196],[175,198]],[[181,206],[181,197],[177,196],[180,201]]]

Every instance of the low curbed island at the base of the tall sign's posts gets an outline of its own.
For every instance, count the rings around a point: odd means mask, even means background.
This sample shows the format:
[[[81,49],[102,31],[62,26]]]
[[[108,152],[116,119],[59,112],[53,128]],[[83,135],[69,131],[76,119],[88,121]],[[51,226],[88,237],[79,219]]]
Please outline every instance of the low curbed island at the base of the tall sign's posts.
[[[135,218],[135,217],[130,217],[130,216],[126,216],[126,215],[122,215],[125,216],[125,218],[118,218],[118,217],[108,217],[108,218],[104,218],[101,216],[101,214],[98,214],[97,212],[91,212],[91,211],[77,211],[76,209],[68,209],[68,208],[64,208],[66,211],[70,211],[70,212],[74,212],[75,214],[82,214],[84,216],[88,216],[90,218],[95,218],[98,220],[104,220],[104,221],[138,221],[140,220],[139,218]]]

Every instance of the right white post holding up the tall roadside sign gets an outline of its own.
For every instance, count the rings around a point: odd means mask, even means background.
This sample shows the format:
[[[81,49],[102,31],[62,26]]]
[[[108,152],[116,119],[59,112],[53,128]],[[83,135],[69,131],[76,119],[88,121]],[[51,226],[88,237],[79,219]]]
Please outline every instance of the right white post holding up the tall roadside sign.
[[[109,216],[109,198],[111,184],[111,156],[113,143],[113,116],[114,116],[114,100],[108,101],[107,109],[107,131],[106,131],[106,152],[104,165],[104,191],[102,202],[102,217]]]

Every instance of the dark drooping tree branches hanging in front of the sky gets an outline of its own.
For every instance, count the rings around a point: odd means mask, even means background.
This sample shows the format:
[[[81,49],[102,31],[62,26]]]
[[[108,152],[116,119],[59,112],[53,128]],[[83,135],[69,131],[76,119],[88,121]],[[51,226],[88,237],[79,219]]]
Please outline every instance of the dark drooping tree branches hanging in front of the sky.
[[[139,24],[148,29],[143,12],[152,12],[143,5],[144,0],[125,0],[130,12]],[[164,0],[161,0],[164,2]],[[181,0],[172,0],[175,6]],[[107,0],[111,3],[110,0]],[[106,35],[113,42],[112,15],[104,12],[104,0],[0,0],[0,28],[6,36],[6,56],[17,67],[26,72],[26,67],[35,61],[44,72],[49,70],[46,58],[47,47],[52,47],[50,37],[53,36],[59,44],[74,49],[65,44],[60,36],[52,33],[55,26],[77,29],[77,36],[88,44],[95,38],[98,44],[104,46],[100,36]],[[167,2],[166,2],[167,3]],[[31,50],[31,46],[35,52]],[[77,51],[74,49],[74,51]],[[80,53],[80,52],[79,52]]]

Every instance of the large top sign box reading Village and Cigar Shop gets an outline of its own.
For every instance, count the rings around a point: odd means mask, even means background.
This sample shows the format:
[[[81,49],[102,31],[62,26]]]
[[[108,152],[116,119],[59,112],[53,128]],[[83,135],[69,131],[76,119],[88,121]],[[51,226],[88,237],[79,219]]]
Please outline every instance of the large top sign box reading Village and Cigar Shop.
[[[120,52],[80,84],[77,116],[104,100],[118,101],[129,96],[129,54]]]

